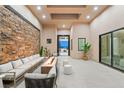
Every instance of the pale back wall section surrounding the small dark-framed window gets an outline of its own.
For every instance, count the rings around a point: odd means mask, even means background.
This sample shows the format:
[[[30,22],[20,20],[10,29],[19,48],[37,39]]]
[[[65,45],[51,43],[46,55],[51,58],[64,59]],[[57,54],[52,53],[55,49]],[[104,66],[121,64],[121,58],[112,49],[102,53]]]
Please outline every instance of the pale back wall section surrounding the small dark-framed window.
[[[78,38],[86,38],[90,42],[90,30],[88,24],[74,24],[71,28],[71,36],[73,40],[72,50],[70,50],[70,55],[73,58],[82,58],[83,52],[78,51]]]

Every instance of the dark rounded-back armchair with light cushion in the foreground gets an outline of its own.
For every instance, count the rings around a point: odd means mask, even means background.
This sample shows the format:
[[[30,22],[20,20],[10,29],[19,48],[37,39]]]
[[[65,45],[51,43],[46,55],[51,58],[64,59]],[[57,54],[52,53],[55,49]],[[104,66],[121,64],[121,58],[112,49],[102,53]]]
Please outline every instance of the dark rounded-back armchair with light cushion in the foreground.
[[[25,75],[26,88],[53,88],[55,84],[55,75],[27,73]]]

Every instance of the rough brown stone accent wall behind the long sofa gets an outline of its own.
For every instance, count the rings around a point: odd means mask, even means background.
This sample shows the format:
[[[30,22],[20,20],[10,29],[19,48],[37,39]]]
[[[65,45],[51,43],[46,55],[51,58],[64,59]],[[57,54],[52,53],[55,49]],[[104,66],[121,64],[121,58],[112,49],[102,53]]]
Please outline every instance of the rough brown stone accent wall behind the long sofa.
[[[0,64],[39,52],[40,31],[0,6]]]

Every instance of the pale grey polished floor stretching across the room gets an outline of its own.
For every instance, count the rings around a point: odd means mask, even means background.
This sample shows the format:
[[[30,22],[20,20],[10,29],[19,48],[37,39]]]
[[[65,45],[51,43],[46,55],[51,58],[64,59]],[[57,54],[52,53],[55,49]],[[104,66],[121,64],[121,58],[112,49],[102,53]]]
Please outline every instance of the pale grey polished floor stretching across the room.
[[[58,57],[59,76],[58,88],[124,88],[124,73],[104,66],[94,61],[83,61],[68,56]],[[63,74],[63,61],[68,60],[72,65],[71,75]],[[40,73],[40,67],[34,71]],[[24,88],[24,81],[17,86]]]

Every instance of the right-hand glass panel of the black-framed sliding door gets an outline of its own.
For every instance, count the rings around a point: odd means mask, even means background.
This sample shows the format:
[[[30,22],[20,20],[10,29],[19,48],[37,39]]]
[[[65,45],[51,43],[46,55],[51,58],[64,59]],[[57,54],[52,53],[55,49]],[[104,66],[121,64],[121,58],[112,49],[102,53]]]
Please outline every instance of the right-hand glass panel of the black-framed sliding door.
[[[113,32],[113,66],[124,70],[124,30]]]

